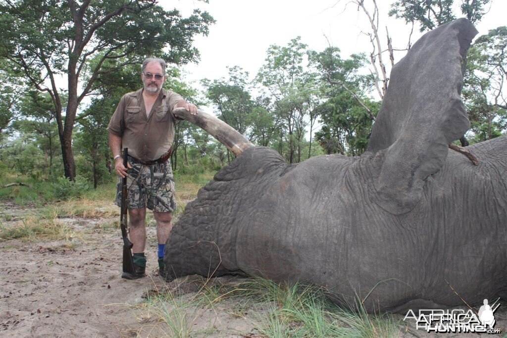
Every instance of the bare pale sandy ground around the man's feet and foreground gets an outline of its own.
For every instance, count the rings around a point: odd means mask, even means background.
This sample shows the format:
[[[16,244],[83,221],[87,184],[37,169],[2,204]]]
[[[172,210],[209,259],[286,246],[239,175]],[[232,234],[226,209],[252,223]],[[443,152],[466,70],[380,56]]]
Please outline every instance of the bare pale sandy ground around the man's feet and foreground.
[[[24,214],[29,210],[11,205],[9,212]],[[184,296],[191,295],[202,282],[199,284],[194,276],[165,283],[156,276],[155,229],[148,228],[148,276],[129,281],[120,278],[120,231],[97,227],[111,219],[62,221],[80,235],[70,242],[0,243],[0,337],[171,336],[160,318],[142,306],[146,304],[143,296],[153,290],[177,290]],[[192,336],[260,338],[256,330],[258,320],[248,318],[248,310],[240,308],[238,301],[229,299],[211,309],[189,309]],[[502,304],[495,313],[495,327],[503,332],[507,327],[506,310],[507,306]],[[504,333],[427,334],[415,331],[411,325],[408,328],[407,332],[401,327],[399,336],[505,336]]]

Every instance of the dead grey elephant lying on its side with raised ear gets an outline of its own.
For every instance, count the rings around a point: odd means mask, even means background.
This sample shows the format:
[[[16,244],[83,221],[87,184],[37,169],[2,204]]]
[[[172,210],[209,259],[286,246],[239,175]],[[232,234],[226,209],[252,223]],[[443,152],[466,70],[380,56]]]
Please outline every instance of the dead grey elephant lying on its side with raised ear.
[[[367,311],[507,296],[507,136],[449,148],[469,128],[461,60],[477,34],[457,19],[396,63],[367,151],[287,164],[211,114],[178,109],[237,157],[175,223],[169,280],[257,275],[316,284]]]

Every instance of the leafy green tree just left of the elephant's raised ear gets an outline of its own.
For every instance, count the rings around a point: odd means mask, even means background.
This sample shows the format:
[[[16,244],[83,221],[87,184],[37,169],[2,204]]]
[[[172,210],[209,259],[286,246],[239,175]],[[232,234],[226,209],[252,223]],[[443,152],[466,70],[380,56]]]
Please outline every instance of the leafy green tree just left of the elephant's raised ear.
[[[367,97],[375,79],[358,73],[366,64],[363,54],[340,57],[340,50],[329,47],[312,51],[310,62],[321,74],[322,103],[316,108],[322,127],[315,133],[324,151],[356,156],[368,144],[380,103]]]

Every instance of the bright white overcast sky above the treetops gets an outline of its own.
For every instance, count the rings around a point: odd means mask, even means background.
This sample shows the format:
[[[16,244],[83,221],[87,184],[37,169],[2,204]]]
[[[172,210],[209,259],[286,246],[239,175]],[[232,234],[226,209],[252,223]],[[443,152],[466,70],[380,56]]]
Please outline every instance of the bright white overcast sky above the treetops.
[[[410,26],[405,25],[402,19],[387,16],[391,2],[377,0],[381,43],[384,48],[387,47],[387,25],[393,48],[403,49],[408,42]],[[352,53],[369,54],[371,51],[369,37],[361,33],[361,30],[370,31],[370,24],[365,14],[348,4],[347,0],[209,0],[209,4],[179,0],[166,5],[166,8],[170,6],[176,6],[184,16],[189,15],[193,8],[200,8],[216,20],[209,28],[209,35],[199,36],[195,41],[194,45],[201,53],[199,64],[184,67],[187,72],[184,80],[195,82],[195,87],[199,87],[196,82],[203,78],[227,78],[226,66],[238,65],[248,71],[252,79],[264,64],[269,46],[286,46],[298,35],[302,43],[316,51],[328,47],[329,39],[332,46],[340,48],[342,58],[348,58]],[[476,37],[489,29],[507,25],[505,13],[507,1],[493,0],[489,13],[476,26],[479,30]],[[412,36],[414,43],[420,36],[417,28]],[[396,55],[395,62],[403,55],[405,52]]]

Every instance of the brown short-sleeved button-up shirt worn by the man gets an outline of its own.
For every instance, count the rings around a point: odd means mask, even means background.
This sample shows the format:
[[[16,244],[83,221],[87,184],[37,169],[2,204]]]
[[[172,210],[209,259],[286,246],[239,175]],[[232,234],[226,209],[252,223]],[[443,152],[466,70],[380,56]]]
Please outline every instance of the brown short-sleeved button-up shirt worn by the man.
[[[141,161],[154,161],[172,144],[176,119],[174,105],[183,101],[179,94],[162,89],[147,116],[142,88],[125,94],[111,117],[107,131],[122,138],[122,149]]]

